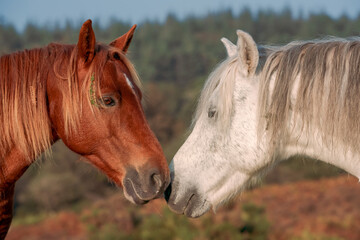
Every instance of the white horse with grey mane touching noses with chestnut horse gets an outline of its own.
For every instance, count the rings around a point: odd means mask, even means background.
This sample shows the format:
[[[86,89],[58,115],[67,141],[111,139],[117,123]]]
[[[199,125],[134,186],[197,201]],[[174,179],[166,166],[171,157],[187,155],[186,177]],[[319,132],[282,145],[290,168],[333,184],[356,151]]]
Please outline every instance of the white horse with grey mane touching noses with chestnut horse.
[[[274,48],[260,73],[252,37],[223,38],[228,57],[210,74],[193,129],[170,164],[169,207],[198,217],[281,160],[305,155],[360,177],[360,41]]]

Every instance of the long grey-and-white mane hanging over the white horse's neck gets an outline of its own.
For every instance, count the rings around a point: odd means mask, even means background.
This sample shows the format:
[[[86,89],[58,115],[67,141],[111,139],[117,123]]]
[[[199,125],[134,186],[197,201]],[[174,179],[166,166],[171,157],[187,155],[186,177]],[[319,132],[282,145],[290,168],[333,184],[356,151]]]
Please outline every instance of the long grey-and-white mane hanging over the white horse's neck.
[[[346,150],[357,150],[358,38],[292,42],[275,49],[266,60],[259,85],[258,136],[267,138],[271,153],[295,126],[300,127],[300,134],[318,131],[327,147],[336,142],[347,146]]]

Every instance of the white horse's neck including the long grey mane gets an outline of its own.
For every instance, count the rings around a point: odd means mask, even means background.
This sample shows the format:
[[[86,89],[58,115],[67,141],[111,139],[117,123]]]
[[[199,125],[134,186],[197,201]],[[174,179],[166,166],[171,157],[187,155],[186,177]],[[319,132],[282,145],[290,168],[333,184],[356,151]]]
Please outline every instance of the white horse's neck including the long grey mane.
[[[359,54],[358,41],[341,40],[292,44],[269,56],[259,129],[277,159],[306,155],[360,177]]]

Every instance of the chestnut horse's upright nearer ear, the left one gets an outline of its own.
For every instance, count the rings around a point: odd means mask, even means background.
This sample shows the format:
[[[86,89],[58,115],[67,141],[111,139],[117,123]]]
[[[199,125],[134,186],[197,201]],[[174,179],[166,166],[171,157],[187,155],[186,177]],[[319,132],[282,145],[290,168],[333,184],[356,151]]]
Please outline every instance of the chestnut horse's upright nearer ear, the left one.
[[[80,29],[79,41],[77,44],[79,59],[82,59],[85,65],[91,63],[95,55],[96,40],[91,23],[90,19],[84,22]]]

